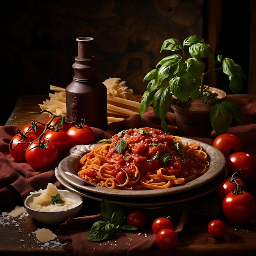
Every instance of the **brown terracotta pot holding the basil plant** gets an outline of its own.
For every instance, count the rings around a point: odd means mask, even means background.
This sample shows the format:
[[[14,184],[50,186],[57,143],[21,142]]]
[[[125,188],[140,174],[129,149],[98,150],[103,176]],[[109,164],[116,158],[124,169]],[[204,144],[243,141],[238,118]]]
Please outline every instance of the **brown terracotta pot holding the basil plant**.
[[[218,93],[218,99],[225,98],[224,91],[213,88],[213,92]],[[212,127],[210,123],[211,104],[201,99],[191,100],[189,102],[176,101],[171,105],[174,111],[177,129],[180,136],[209,138]]]

